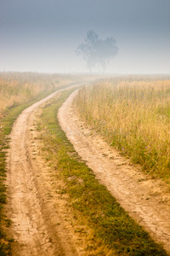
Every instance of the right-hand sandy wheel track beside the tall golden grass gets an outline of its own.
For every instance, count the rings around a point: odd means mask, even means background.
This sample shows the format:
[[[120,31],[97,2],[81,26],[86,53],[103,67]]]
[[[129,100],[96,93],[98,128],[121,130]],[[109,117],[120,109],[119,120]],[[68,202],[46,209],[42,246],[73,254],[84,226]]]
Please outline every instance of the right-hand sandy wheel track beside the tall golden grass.
[[[170,191],[167,184],[150,179],[118,154],[79,118],[71,102],[74,92],[59,109],[59,123],[74,148],[96,178],[116,197],[156,241],[170,252]]]

